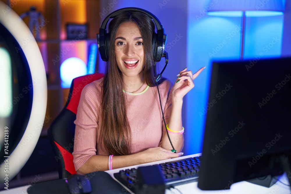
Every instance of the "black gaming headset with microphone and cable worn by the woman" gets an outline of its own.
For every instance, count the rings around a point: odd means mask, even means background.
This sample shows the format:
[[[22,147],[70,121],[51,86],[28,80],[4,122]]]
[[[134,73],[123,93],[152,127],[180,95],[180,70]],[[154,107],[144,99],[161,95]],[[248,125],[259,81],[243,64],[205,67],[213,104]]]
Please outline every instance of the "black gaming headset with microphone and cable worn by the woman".
[[[166,66],[168,65],[168,61],[169,61],[168,53],[164,50],[165,49],[165,45],[166,45],[167,35],[165,34],[164,27],[161,24],[161,22],[159,21],[159,19],[155,15],[153,15],[152,13],[150,13],[147,10],[144,10],[144,9],[141,9],[141,8],[135,8],[135,7],[128,7],[128,8],[118,9],[118,10],[112,12],[111,14],[109,14],[103,20],[103,22],[101,24],[101,27],[100,27],[100,30],[99,30],[99,34],[97,34],[97,43],[98,43],[98,49],[99,49],[99,52],[100,52],[100,56],[101,56],[102,60],[104,60],[104,61],[108,61],[109,60],[110,35],[106,31],[109,19],[114,18],[117,15],[119,15],[121,13],[125,13],[125,12],[140,12],[140,13],[143,13],[143,14],[147,15],[148,17],[150,17],[150,19],[152,19],[155,22],[155,25],[157,27],[157,33],[154,32],[153,35],[152,35],[152,52],[153,52],[153,56],[154,56],[154,66],[155,66],[156,62],[159,62],[161,60],[162,57],[166,58],[165,66],[164,66],[162,72],[160,74],[155,75],[156,76],[155,77],[155,82],[157,83],[162,78],[162,73],[166,69]],[[154,71],[155,71],[155,67],[154,67]],[[158,84],[157,84],[157,90],[158,90],[158,93],[159,93]],[[164,118],[164,113],[163,113],[160,93],[159,93],[159,100],[160,100],[160,106],[161,106],[161,110],[162,110],[164,125],[166,127],[166,122],[165,122],[165,118]],[[166,130],[166,132],[168,134],[167,130]],[[168,134],[168,138],[169,138],[169,141],[170,141],[170,143],[171,143],[171,145],[173,147],[173,144],[171,142],[169,134]],[[174,147],[172,149],[172,152],[176,153],[176,150],[174,149]]]

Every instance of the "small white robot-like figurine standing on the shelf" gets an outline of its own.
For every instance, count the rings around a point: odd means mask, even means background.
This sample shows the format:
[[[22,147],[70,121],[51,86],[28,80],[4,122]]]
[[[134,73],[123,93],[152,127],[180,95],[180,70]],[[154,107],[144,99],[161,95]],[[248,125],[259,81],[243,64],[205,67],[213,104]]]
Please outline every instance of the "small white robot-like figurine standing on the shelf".
[[[36,34],[36,40],[40,40],[40,30],[43,26],[40,25],[41,21],[44,21],[43,15],[41,12],[36,11],[35,6],[31,6],[29,11],[24,12],[20,15],[21,19],[24,17],[29,16],[29,29],[31,33],[34,35]],[[39,22],[40,19],[40,22]]]

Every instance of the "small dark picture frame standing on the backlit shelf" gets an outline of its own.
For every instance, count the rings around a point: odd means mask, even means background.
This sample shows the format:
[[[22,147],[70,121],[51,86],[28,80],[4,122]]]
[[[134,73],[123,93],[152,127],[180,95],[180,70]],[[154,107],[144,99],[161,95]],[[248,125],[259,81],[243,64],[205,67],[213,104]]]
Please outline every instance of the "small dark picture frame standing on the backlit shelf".
[[[88,38],[88,24],[66,24],[68,40],[84,40]]]

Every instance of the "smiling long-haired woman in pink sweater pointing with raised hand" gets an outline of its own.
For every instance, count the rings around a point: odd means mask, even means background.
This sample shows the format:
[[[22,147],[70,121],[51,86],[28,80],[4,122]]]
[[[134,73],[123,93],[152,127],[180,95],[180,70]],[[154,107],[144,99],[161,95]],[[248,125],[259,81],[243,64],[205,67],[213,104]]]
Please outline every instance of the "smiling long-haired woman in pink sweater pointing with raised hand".
[[[122,13],[109,23],[105,76],[84,87],[74,122],[77,172],[122,168],[183,154],[182,99],[203,68],[195,74],[185,68],[173,86],[167,80],[159,83],[166,129],[153,81],[154,30],[152,20],[139,12]],[[177,153],[171,151],[166,130]]]

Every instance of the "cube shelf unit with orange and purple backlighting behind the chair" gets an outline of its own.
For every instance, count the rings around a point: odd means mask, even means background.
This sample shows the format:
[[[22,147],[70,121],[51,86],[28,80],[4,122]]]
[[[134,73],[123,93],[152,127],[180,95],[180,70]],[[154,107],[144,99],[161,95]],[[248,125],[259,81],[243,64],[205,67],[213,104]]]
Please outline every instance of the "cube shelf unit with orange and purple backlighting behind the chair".
[[[65,59],[70,57],[81,58],[87,64],[88,47],[92,43],[97,43],[96,33],[101,25],[99,15],[101,0],[0,1],[8,4],[18,15],[29,11],[31,6],[35,6],[36,11],[41,12],[45,20],[43,25],[40,22],[38,29],[40,29],[41,40],[38,40],[37,44],[40,48],[47,74],[47,110],[41,132],[41,138],[46,138],[47,129],[62,110],[66,102],[65,97],[69,93],[69,88],[61,88],[60,65]],[[28,25],[29,18],[25,17],[23,20]],[[65,26],[67,23],[88,24],[88,38],[86,40],[66,40]],[[74,41],[73,44],[70,44],[72,41]],[[64,47],[69,47],[70,51],[61,55]],[[98,67],[98,59],[96,59],[96,67]],[[38,152],[38,147],[35,148],[34,152]],[[54,160],[54,155],[52,157]],[[35,165],[43,164],[43,168],[46,168],[46,164],[42,163],[41,158],[34,159],[34,161],[36,162]],[[24,168],[26,168],[26,165]],[[23,178],[24,176],[21,174],[23,169],[11,181],[11,185],[20,186],[29,184],[35,178],[35,176]],[[43,175],[45,178],[42,180],[57,179],[57,169],[46,173],[46,175]]]

